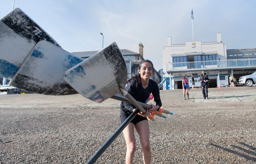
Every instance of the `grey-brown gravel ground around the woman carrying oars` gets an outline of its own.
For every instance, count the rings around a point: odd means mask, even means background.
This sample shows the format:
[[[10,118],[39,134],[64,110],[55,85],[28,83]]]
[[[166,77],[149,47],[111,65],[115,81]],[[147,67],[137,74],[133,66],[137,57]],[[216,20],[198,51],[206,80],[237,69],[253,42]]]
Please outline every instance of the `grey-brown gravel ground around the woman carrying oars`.
[[[151,163],[256,163],[255,101],[163,99],[165,109],[175,115],[149,122]],[[119,105],[0,108],[0,122],[1,164],[79,164],[86,163],[118,128]],[[136,138],[134,163],[140,164],[137,133]],[[122,164],[125,154],[124,137],[119,135],[96,163]]]

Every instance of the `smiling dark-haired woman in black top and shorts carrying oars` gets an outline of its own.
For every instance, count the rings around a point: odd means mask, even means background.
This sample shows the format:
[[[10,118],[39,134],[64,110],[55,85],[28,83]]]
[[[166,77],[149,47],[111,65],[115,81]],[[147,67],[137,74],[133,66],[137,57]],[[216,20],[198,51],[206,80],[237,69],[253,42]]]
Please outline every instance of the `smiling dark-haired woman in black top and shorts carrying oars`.
[[[152,108],[148,109],[145,114],[139,112],[123,130],[123,135],[127,147],[126,164],[133,163],[134,153],[136,151],[134,127],[140,138],[144,164],[150,164],[151,162],[149,123],[146,115],[152,111],[158,110],[162,106],[158,85],[155,81],[150,79],[150,77],[153,75],[153,70],[153,63],[150,60],[143,60],[139,64],[138,75],[133,76],[130,80],[127,81],[126,89],[127,92],[132,95],[132,97],[134,97],[139,102],[145,102],[146,99],[148,99],[150,93],[152,93],[156,105],[150,104]],[[130,103],[121,102],[121,124],[130,116],[130,114],[132,114],[135,108],[136,107]]]

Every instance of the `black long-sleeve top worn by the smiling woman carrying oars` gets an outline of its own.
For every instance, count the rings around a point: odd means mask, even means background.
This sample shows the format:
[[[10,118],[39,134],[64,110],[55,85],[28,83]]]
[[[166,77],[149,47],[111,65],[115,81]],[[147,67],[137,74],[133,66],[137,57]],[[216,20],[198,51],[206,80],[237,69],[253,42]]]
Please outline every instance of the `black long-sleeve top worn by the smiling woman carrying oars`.
[[[156,105],[159,105],[159,107],[162,106],[158,85],[156,84],[155,81],[153,81],[151,79],[149,79],[149,84],[146,89],[144,89],[142,87],[141,82],[139,83],[139,85],[136,88],[136,81],[131,80],[127,84],[126,90],[128,93],[130,93],[135,98],[135,100],[142,102],[142,103],[144,103],[146,101],[146,99],[148,99],[150,93],[152,92],[152,94],[154,96],[154,101],[156,102]],[[131,114],[133,109],[135,109],[135,108],[136,107],[132,104],[121,102],[120,116],[122,114],[124,114],[124,115]]]

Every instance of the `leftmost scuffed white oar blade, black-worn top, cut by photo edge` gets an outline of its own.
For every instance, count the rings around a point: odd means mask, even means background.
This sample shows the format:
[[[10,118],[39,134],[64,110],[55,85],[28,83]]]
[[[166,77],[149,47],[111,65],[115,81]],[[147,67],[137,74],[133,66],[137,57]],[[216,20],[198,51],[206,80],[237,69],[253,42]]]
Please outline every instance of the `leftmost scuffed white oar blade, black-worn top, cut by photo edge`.
[[[0,75],[11,80],[40,40],[59,46],[21,9],[14,9],[4,16],[0,20]]]

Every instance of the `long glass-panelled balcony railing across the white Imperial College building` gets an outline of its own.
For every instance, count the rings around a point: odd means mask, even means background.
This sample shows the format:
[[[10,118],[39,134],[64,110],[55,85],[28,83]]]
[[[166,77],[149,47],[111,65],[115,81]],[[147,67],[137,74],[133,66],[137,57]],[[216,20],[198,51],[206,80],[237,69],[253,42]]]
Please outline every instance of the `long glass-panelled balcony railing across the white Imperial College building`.
[[[174,70],[208,69],[208,68],[223,68],[223,67],[256,67],[256,58],[193,61],[193,62],[169,62],[166,65],[166,70],[174,71]]]

